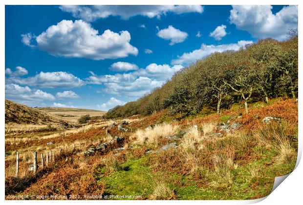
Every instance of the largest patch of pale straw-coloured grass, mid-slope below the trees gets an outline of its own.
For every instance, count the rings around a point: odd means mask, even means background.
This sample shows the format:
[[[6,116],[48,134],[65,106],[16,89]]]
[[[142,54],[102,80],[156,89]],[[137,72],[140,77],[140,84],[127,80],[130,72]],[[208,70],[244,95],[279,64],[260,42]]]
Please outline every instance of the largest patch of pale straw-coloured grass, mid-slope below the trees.
[[[173,124],[161,124],[155,126],[153,129],[139,129],[131,136],[131,139],[135,139],[135,143],[142,145],[145,143],[157,143],[160,138],[175,135],[178,128],[177,125]]]

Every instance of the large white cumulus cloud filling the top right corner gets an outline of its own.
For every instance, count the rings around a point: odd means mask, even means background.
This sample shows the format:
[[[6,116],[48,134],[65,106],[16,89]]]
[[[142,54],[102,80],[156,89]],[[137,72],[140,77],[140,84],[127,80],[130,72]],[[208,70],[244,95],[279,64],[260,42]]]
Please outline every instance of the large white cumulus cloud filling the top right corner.
[[[288,29],[298,28],[298,6],[284,6],[273,14],[271,5],[234,5],[229,20],[255,38],[285,40]]]

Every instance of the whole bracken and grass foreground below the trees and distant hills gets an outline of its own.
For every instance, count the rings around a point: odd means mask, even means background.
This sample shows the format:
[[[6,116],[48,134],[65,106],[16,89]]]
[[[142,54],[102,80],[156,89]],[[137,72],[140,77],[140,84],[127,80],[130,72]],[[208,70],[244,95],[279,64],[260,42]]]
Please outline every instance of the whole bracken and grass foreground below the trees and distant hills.
[[[251,103],[249,109],[245,114],[236,104],[219,115],[201,113],[181,121],[164,110],[61,131],[6,135],[6,199],[262,198],[270,194],[274,178],[290,173],[296,164],[298,104],[274,99]],[[48,167],[42,169],[38,160],[34,177],[28,170],[31,153],[37,151],[40,157],[58,149],[60,155],[56,152],[56,161]]]

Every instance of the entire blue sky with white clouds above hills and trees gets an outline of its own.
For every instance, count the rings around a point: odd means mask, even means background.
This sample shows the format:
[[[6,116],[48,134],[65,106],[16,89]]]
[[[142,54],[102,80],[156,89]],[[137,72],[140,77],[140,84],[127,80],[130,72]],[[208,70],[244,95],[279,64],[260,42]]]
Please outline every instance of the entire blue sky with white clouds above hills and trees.
[[[108,110],[212,52],[287,39],[297,6],[5,6],[5,98]]]

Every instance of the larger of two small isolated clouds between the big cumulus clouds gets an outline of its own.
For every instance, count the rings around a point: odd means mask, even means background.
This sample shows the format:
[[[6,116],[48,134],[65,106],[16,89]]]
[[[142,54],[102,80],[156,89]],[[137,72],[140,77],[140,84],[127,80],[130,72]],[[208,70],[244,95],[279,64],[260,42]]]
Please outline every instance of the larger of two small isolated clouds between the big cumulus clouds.
[[[169,40],[170,45],[175,43],[180,43],[185,41],[188,34],[186,32],[180,31],[179,29],[174,28],[172,25],[168,28],[162,29],[157,33],[157,36],[161,39]]]

